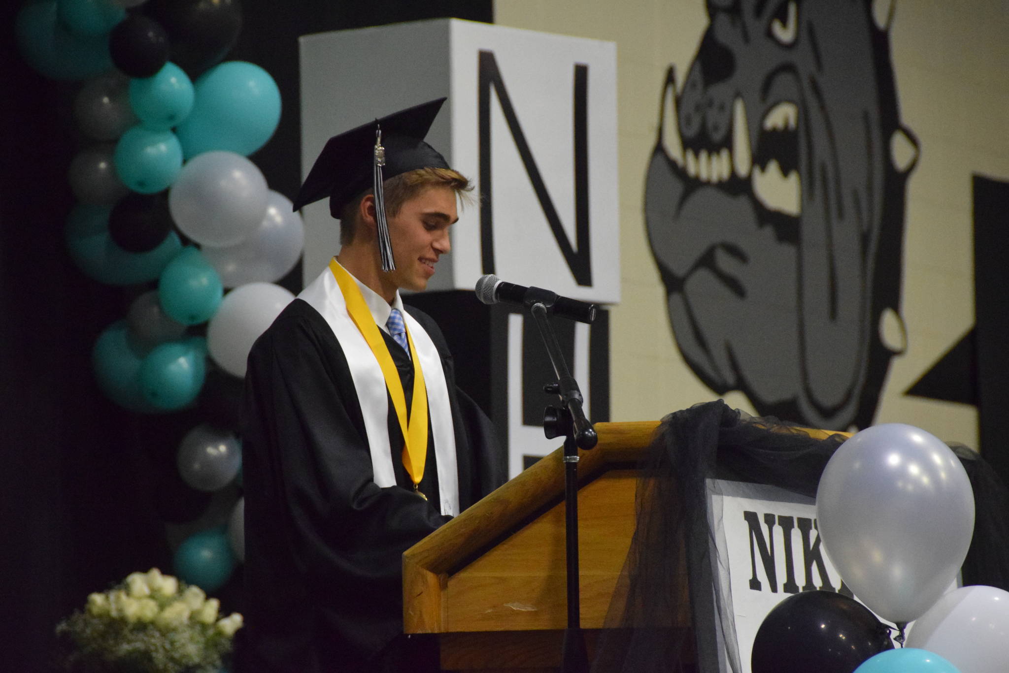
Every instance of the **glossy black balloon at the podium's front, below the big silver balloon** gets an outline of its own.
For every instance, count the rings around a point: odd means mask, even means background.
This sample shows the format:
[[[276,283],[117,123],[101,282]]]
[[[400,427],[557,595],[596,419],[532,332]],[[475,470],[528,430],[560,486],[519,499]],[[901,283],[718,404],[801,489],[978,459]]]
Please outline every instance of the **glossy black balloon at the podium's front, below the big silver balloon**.
[[[892,649],[890,630],[862,603],[833,591],[803,591],[767,613],[750,662],[753,673],[852,673]]]

